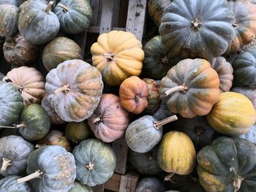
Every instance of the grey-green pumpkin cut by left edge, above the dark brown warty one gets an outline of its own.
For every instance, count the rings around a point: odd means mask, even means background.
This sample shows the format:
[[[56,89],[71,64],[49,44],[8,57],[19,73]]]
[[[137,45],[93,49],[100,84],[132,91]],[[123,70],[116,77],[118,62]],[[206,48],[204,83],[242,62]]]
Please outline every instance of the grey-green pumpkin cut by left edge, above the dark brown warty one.
[[[0,4],[0,35],[11,37],[18,31],[18,7],[12,4]]]

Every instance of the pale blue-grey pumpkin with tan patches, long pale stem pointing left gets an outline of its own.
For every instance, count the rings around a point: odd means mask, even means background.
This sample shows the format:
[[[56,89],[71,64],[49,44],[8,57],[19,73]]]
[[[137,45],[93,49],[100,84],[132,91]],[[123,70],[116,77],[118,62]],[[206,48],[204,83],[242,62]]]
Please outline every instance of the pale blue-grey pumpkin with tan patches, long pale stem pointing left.
[[[75,158],[59,145],[40,147],[30,153],[26,177],[18,183],[29,181],[34,192],[68,192],[75,181]]]

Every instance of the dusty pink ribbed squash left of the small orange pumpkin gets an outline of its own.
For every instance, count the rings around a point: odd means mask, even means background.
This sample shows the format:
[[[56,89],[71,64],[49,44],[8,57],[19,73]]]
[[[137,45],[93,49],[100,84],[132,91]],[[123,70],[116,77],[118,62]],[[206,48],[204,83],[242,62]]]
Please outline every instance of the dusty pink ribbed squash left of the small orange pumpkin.
[[[124,135],[129,124],[129,113],[121,107],[118,96],[103,94],[88,124],[95,137],[103,142],[113,142]]]

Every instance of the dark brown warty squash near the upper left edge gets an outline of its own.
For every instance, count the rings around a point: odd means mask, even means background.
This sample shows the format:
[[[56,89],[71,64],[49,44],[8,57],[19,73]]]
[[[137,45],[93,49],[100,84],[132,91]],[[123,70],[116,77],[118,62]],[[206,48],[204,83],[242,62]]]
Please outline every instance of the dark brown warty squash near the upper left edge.
[[[39,49],[31,45],[20,35],[6,37],[4,42],[4,58],[10,64],[29,65],[37,61]]]

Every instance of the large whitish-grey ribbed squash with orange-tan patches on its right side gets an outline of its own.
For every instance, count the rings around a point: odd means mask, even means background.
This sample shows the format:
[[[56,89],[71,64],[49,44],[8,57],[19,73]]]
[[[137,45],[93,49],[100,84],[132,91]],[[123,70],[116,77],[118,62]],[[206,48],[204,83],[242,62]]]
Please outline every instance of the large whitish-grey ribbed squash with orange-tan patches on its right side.
[[[80,122],[89,118],[102,95],[102,75],[79,59],[67,60],[46,76],[45,90],[50,106],[61,119]]]

